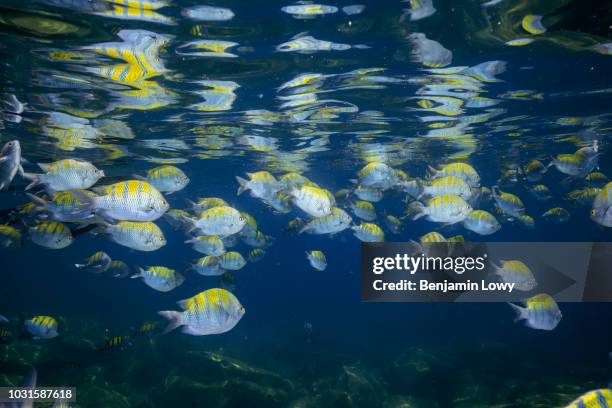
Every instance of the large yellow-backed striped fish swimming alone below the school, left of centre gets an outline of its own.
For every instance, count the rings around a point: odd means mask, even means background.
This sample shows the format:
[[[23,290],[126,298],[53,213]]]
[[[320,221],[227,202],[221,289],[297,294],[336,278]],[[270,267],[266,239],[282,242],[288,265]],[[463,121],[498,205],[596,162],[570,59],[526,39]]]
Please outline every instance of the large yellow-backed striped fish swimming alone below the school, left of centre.
[[[244,316],[244,307],[238,299],[225,289],[214,288],[201,292],[178,305],[182,312],[160,311],[158,314],[169,320],[164,334],[183,327],[183,333],[192,336],[225,333],[233,329]]]

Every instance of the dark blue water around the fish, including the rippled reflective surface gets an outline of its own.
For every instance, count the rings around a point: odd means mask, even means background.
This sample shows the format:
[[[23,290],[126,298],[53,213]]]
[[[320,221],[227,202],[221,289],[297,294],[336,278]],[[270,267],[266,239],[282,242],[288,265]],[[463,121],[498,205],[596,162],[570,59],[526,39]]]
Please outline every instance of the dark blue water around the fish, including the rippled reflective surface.
[[[231,282],[189,271],[204,255],[164,217],[156,224],[168,244],[153,252],[77,233],[76,225],[72,245],[43,248],[27,238],[34,218],[11,211],[30,200],[23,192],[28,181],[17,175],[0,192],[0,224],[21,230],[24,241],[0,252],[0,314],[11,320],[0,326],[10,332],[5,341],[0,337],[0,386],[19,384],[35,366],[39,385],[77,387],[76,407],[562,407],[612,380],[609,304],[562,303],[559,326],[540,331],[513,323],[506,304],[362,303],[360,241],[350,230],[285,233],[290,220],[309,216],[295,207],[279,214],[248,192],[237,196],[235,179],[296,172],[337,192],[353,189],[351,180],[368,162],[420,179],[427,178],[427,166],[466,162],[481,186],[519,196],[535,228],[502,222],[484,237],[461,224],[406,218],[402,232],[392,234],[382,217],[401,216],[408,205],[405,192],[389,189],[373,203],[385,240],[438,231],[471,241],[612,241],[612,229],[589,218],[590,203],[565,198],[588,186],[585,176],[568,179],[554,167],[538,182],[514,175],[531,160],[546,166],[551,157],[595,145],[592,171],[612,175],[612,57],[593,48],[612,41],[610,2],[503,0],[482,8],[478,0],[434,0],[433,15],[410,21],[401,19],[409,5],[399,1],[363,1],[361,14],[338,10],[312,19],[280,10],[292,3],[228,1],[214,5],[232,9],[232,19],[198,22],[180,13],[196,3],[174,0],[157,12],[175,25],[89,12],[109,3],[0,2],[0,92],[5,101],[13,94],[26,103],[18,117],[4,104],[0,144],[20,141],[27,172],[40,172],[36,163],[89,161],[106,174],[98,185],[145,175],[170,160],[191,180],[165,195],[170,208],[220,197],[251,214],[274,241],[261,261],[232,271]],[[547,32],[525,32],[527,14],[543,15]],[[167,37],[144,57],[149,65],[83,48],[121,42],[120,30]],[[275,52],[305,31],[369,48]],[[505,70],[489,80],[461,69],[425,71],[410,57],[407,36],[414,32],[452,51],[448,67],[505,61]],[[504,45],[526,37],[536,41]],[[182,44],[204,39],[238,43],[226,50],[235,57],[177,53]],[[124,68],[129,78],[117,77]],[[366,70],[373,68],[381,70]],[[306,73],[325,77],[281,88]],[[202,95],[196,92],[205,86],[195,81],[233,84]],[[288,106],[297,100],[292,95],[315,95],[317,102]],[[491,98],[492,105],[472,105],[477,97]],[[447,110],[436,109],[445,104]],[[108,119],[120,130],[105,127]],[[552,197],[536,200],[529,192],[535,184],[547,186]],[[45,194],[39,187],[32,192]],[[337,199],[353,215],[349,202]],[[491,200],[475,207],[504,218]],[[552,207],[569,211],[569,221],[544,220]],[[252,249],[239,240],[232,250],[246,258]],[[308,264],[304,252],[312,249],[325,253],[327,270]],[[123,260],[132,272],[171,267],[185,283],[162,293],[141,280],[74,267],[96,251]],[[246,309],[231,331],[135,333],[144,322],[163,327],[158,310],[177,310],[176,301],[223,285]],[[55,317],[59,336],[31,339],[21,322],[35,315]],[[99,350],[122,335],[132,344]]]

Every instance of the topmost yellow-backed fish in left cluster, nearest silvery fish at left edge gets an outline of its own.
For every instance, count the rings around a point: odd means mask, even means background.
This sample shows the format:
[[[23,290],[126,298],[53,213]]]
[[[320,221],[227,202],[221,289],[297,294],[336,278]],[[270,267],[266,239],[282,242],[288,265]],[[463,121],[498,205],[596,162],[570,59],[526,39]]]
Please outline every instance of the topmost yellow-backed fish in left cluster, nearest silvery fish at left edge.
[[[82,160],[65,159],[50,164],[39,163],[38,166],[44,174],[23,173],[24,178],[31,180],[26,190],[38,184],[43,184],[49,192],[85,190],[104,177],[104,171]]]

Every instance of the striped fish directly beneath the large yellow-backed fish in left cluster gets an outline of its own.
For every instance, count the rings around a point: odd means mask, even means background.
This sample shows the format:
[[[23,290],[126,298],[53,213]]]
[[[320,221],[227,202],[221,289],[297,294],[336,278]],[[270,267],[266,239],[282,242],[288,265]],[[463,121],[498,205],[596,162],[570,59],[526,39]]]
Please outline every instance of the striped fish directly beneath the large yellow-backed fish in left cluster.
[[[103,224],[100,228],[112,241],[138,251],[156,251],[166,245],[163,232],[150,221],[120,221],[116,224]]]

